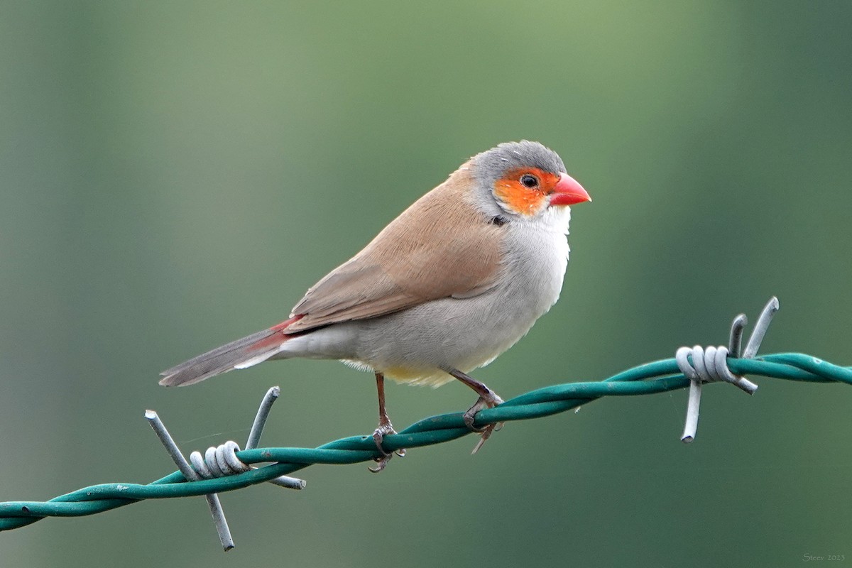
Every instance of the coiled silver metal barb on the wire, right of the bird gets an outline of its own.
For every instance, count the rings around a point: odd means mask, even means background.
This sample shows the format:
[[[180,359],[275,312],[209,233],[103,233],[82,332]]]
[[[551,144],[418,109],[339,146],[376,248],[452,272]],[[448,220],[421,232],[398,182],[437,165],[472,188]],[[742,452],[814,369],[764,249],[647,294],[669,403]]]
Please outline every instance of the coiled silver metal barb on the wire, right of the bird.
[[[757,318],[757,324],[754,330],[751,331],[751,336],[746,344],[745,351],[742,351],[741,358],[740,350],[742,349],[743,330],[748,323],[746,315],[742,313],[734,318],[734,321],[731,323],[728,347],[707,347],[704,349],[696,345],[692,348],[680,347],[676,351],[675,360],[677,367],[681,370],[683,376],[689,379],[687,417],[681,436],[681,441],[684,444],[691,443],[695,439],[695,433],[698,430],[701,385],[703,383],[724,381],[730,382],[749,394],[754,394],[757,391],[756,384],[743,376],[734,375],[728,369],[728,356],[732,359],[754,359],[755,355],[757,355],[757,350],[760,348],[760,344],[763,342],[763,337],[766,336],[766,330],[769,329],[769,323],[778,311],[778,307],[778,298],[772,296],[766,307],[763,307],[760,318]]]

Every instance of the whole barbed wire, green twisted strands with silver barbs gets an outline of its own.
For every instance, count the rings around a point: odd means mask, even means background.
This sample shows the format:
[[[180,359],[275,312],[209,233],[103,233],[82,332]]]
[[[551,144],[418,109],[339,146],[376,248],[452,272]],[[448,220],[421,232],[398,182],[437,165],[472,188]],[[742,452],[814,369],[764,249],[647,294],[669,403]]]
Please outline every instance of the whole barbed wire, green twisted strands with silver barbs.
[[[758,319],[741,357],[740,342],[746,325],[746,317],[743,315],[734,318],[728,347],[708,347],[706,350],[699,346],[682,347],[675,358],[642,364],[600,382],[569,382],[538,388],[509,399],[496,408],[480,410],[475,416],[474,426],[479,428],[486,424],[550,416],[603,397],[665,393],[689,387],[687,420],[682,436],[684,442],[689,442],[694,439],[698,424],[702,383],[731,382],[746,393],[754,393],[757,385],[743,378],[745,375],[787,381],[852,384],[852,367],[832,364],[804,353],[774,353],[756,357],[757,348],[777,309],[778,301],[773,298]],[[287,477],[290,473],[315,464],[352,464],[383,458],[371,434],[337,439],[316,448],[257,448],[268,411],[278,395],[278,387],[273,387],[264,397],[245,450],[239,450],[239,445],[229,441],[210,448],[204,458],[194,452],[190,458],[192,464],[181,455],[157,414],[147,410],[147,419],[178,464],[178,471],[147,485],[90,485],[47,502],[0,502],[0,531],[31,525],[46,517],[102,513],[144,499],[207,496],[222,547],[228,550],[233,548],[233,539],[216,493],[235,491],[268,481],[291,489],[302,489],[304,481]],[[383,449],[385,452],[393,452],[403,448],[441,444],[470,433],[473,432],[465,425],[463,412],[430,416],[400,433],[385,435]],[[250,468],[253,464],[262,463],[267,465]]]

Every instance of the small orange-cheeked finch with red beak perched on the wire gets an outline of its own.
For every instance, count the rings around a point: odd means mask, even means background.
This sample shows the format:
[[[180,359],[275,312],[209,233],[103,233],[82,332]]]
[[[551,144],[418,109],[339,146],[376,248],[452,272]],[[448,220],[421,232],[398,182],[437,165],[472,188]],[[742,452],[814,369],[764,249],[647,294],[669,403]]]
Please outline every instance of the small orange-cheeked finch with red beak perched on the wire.
[[[164,370],[164,386],[192,385],[275,359],[339,359],[376,378],[372,438],[381,471],[395,433],[384,379],[440,385],[478,399],[464,423],[503,399],[468,373],[520,340],[559,299],[570,206],[591,201],[559,155],[534,141],[504,142],[469,158],[350,260],[321,278],[280,324]],[[405,450],[397,450],[400,456]]]

